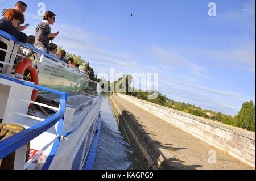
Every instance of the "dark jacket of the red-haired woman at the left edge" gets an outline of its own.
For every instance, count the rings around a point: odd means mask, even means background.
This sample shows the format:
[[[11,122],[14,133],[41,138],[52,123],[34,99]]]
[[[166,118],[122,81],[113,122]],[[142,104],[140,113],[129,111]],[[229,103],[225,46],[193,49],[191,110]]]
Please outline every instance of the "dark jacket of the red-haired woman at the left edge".
[[[22,43],[27,43],[28,37],[25,33],[19,31],[16,27],[13,26],[10,20],[7,18],[0,19],[0,30],[3,30],[10,35],[15,36],[18,41]]]

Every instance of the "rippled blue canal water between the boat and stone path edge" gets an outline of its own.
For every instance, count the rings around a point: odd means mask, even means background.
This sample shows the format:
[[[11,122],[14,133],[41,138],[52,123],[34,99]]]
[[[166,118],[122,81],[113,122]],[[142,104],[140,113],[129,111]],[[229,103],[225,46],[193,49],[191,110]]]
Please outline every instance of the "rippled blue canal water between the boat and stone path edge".
[[[102,95],[101,132],[93,169],[143,169],[129,141],[118,125],[109,102],[109,95]]]

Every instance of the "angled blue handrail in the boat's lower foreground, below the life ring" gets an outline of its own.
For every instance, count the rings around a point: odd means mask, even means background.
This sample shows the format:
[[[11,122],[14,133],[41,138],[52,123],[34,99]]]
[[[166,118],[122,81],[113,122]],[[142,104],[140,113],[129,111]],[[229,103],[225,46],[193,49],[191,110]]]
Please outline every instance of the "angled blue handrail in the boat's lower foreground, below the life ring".
[[[57,131],[56,131],[57,138],[55,137],[55,141],[53,143],[51,152],[49,153],[46,163],[44,163],[44,166],[43,166],[43,169],[48,169],[49,165],[52,162],[54,155],[56,154],[56,151],[59,146],[60,139],[61,139],[61,132],[62,132],[62,128],[63,128],[63,120],[64,120],[64,112],[65,112],[65,103],[67,102],[67,94],[65,92],[49,89],[47,87],[43,87],[43,86],[39,86],[39,85],[34,85],[29,82],[25,82],[25,81],[10,78],[10,77],[5,77],[3,75],[0,75],[0,78],[7,79],[9,81],[14,81],[21,85],[30,86],[30,87],[33,87],[34,89],[40,89],[40,90],[44,90],[44,91],[52,92],[54,94],[61,95],[59,109],[54,115],[52,115],[51,117],[48,117],[46,120],[44,120],[30,128],[25,129],[22,132],[16,133],[13,136],[0,141],[0,159],[2,159],[4,157],[6,157],[7,155],[13,153],[13,151],[19,149],[21,146],[27,144],[27,142],[33,140],[35,137],[46,132],[49,128],[51,128],[53,125],[58,123]],[[28,101],[28,102],[30,102],[30,101]]]

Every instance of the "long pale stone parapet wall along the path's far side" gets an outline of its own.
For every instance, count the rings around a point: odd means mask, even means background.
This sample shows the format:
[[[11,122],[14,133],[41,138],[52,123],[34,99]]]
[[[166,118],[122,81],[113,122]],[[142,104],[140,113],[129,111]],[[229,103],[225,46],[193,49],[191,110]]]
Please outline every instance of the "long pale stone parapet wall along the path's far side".
[[[118,94],[118,96],[255,167],[254,132],[160,106],[133,96],[124,94]]]

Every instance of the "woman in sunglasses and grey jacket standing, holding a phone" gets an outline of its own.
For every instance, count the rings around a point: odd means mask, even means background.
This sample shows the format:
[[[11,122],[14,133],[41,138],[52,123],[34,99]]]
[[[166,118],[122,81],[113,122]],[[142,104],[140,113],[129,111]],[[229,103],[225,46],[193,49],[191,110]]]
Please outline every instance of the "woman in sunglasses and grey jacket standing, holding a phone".
[[[49,53],[49,41],[52,40],[57,33],[51,33],[50,24],[55,22],[55,16],[51,11],[46,11],[43,15],[43,21],[36,26],[35,30],[35,47],[43,52]]]

